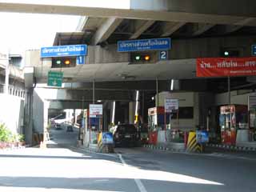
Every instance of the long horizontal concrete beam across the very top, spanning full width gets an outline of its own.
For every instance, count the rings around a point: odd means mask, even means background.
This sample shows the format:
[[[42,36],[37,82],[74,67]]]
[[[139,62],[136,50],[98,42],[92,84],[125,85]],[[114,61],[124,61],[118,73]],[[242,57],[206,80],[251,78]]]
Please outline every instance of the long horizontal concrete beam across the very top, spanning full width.
[[[113,2],[112,0],[111,2]],[[123,0],[125,1],[125,0]],[[76,2],[76,3],[74,3]],[[80,4],[78,3],[80,2]],[[96,18],[130,18],[165,22],[202,22],[234,25],[256,18],[254,0],[126,0],[110,1],[32,1],[0,0],[0,11],[38,14],[72,14]],[[117,10],[118,9],[118,10]],[[164,11],[163,11],[164,10]],[[248,26],[256,26],[250,22]]]

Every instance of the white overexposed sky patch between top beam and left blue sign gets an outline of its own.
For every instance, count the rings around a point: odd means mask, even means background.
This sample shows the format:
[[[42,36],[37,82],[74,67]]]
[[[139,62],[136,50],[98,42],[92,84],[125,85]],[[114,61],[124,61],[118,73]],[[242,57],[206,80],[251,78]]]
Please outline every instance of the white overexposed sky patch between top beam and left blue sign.
[[[80,16],[0,13],[0,49],[10,54],[52,46],[56,32],[73,32]]]

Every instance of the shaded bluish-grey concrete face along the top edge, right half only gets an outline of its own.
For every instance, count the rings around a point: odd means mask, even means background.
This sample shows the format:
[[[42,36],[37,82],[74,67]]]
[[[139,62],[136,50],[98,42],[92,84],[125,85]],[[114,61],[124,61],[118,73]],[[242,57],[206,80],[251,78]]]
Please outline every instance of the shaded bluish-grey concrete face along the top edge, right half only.
[[[197,14],[219,14],[242,17],[255,17],[254,0],[131,0],[134,10],[171,11]]]

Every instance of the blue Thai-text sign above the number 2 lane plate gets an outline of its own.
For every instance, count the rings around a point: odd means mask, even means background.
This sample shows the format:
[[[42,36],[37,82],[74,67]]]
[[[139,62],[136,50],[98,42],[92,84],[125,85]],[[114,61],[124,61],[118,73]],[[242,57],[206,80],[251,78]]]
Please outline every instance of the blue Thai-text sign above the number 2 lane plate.
[[[170,50],[170,47],[170,38],[152,38],[118,42],[118,52]]]

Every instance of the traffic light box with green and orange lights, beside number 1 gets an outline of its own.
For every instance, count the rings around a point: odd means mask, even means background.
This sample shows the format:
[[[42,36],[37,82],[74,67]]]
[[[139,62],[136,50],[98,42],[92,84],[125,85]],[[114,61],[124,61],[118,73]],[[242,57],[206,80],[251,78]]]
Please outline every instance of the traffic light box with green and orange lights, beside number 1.
[[[52,58],[52,68],[62,68],[62,67],[74,67],[76,66],[75,57],[62,57],[62,58]]]

